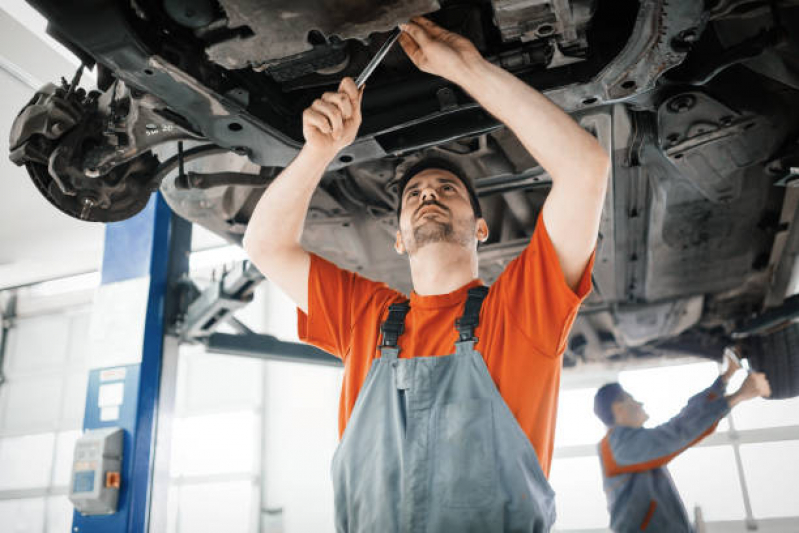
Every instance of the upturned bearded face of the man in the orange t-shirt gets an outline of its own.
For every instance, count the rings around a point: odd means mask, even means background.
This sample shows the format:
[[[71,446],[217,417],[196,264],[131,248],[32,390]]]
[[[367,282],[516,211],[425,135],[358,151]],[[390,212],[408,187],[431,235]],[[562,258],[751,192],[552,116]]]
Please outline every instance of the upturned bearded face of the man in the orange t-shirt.
[[[451,172],[436,168],[420,172],[405,186],[401,201],[398,245],[409,255],[434,243],[476,245],[469,191]]]

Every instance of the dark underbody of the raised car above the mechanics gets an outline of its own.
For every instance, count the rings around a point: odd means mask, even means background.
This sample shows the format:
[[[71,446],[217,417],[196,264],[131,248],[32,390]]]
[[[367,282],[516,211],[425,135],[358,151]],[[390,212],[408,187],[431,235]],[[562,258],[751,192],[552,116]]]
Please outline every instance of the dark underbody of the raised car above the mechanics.
[[[612,154],[594,291],[567,364],[720,357],[793,293],[799,0],[30,3],[97,67],[96,91],[43,88],[11,134],[12,159],[71,216],[121,220],[160,188],[175,212],[240,243],[301,146],[302,110],[355,77],[398,23],[426,14]],[[399,47],[367,84],[363,116],[312,199],[306,248],[407,292],[392,248],[396,178],[435,154],[476,184],[491,230],[480,275],[496,279],[532,234],[546,171]],[[782,327],[791,316],[780,316]]]

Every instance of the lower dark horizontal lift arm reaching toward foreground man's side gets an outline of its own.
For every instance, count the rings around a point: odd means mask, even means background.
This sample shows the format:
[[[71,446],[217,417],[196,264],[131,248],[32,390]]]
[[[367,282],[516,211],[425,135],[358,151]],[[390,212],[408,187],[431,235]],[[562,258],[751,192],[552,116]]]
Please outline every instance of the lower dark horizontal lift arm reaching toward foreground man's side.
[[[297,342],[281,341],[272,335],[214,333],[205,341],[205,347],[208,353],[238,355],[268,361],[342,366],[340,359],[319,348]]]

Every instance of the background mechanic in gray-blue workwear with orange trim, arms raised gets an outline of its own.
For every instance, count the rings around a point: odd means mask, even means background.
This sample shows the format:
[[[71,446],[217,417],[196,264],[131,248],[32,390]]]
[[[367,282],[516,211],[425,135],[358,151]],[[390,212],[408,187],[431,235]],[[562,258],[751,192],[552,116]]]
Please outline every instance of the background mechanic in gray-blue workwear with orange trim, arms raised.
[[[711,434],[739,403],[771,395],[766,376],[753,372],[737,392],[725,396],[726,385],[739,368],[727,357],[727,370],[710,387],[688,400],[677,416],[654,428],[643,427],[649,415],[618,383],[600,387],[594,412],[609,428],[599,444],[599,457],[614,532],[694,530],[666,464]]]

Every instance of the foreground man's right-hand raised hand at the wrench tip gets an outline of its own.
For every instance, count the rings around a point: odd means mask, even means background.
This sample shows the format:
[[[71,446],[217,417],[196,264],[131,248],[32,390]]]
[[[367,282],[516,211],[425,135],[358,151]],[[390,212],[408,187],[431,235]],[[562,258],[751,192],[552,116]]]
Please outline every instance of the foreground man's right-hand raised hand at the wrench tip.
[[[460,83],[468,67],[483,60],[471,41],[424,17],[414,17],[400,29],[400,46],[419,70],[429,74]]]

